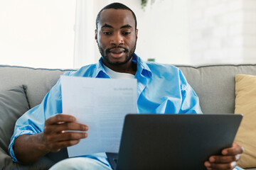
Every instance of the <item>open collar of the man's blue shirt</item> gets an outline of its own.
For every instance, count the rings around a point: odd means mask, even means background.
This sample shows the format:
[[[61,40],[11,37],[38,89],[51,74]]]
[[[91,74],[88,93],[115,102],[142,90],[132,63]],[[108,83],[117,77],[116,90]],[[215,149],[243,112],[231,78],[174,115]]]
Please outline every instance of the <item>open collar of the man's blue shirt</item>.
[[[148,65],[146,64],[146,62],[144,62],[135,53],[134,53],[134,55],[132,57],[132,62],[137,63],[137,72],[136,72],[136,74],[140,74],[143,77],[151,78],[152,72],[149,69]],[[99,62],[97,62],[97,64],[96,64],[96,72],[94,72],[92,77],[95,77],[95,78],[110,78],[107,75],[107,73],[106,73],[106,71],[105,71],[105,69],[103,67],[102,57],[100,57]]]

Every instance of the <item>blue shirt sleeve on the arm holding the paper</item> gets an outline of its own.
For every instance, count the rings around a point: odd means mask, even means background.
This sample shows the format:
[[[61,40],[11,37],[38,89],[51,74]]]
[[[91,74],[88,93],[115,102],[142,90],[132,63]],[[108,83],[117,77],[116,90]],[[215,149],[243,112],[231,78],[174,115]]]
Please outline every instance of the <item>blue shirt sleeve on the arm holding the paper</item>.
[[[13,149],[16,138],[21,135],[33,135],[43,132],[46,119],[58,113],[62,113],[60,79],[46,94],[41,104],[31,108],[16,121],[14,135],[11,137],[9,145],[9,154],[14,162],[18,162]]]

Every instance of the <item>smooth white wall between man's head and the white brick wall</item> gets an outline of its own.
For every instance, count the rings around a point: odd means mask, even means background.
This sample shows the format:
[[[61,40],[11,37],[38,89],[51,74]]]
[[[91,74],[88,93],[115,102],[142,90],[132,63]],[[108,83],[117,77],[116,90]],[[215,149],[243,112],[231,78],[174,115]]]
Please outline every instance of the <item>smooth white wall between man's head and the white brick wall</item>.
[[[188,1],[162,0],[137,11],[137,53],[146,60],[168,64],[190,64]]]

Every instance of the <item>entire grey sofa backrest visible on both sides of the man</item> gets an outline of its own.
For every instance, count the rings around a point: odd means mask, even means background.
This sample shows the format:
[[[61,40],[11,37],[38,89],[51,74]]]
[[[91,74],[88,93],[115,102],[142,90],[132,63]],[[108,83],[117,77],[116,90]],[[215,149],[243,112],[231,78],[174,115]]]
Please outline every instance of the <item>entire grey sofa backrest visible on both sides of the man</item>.
[[[256,75],[256,64],[177,66],[199,96],[203,113],[234,113],[235,74]],[[0,90],[26,85],[30,106],[36,106],[70,69],[33,69],[0,65]]]

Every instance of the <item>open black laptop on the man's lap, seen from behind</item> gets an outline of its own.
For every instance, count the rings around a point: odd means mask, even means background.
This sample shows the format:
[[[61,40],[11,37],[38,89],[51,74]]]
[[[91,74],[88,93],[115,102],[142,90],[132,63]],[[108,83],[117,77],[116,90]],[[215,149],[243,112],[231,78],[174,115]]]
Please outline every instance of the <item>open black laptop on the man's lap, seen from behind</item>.
[[[112,169],[206,169],[211,155],[233,144],[242,115],[129,114]]]

